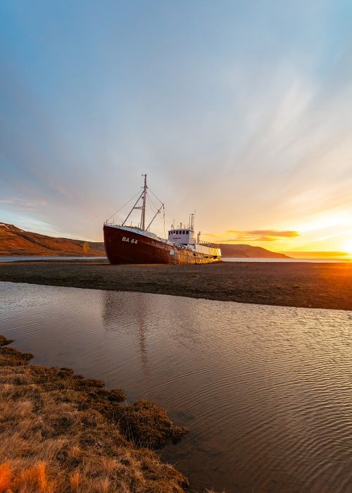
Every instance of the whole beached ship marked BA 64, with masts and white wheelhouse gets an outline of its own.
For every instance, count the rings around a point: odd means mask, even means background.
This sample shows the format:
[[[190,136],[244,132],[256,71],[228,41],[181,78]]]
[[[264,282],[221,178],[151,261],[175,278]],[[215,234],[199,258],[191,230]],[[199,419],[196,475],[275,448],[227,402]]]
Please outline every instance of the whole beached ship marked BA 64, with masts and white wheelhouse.
[[[104,244],[108,261],[118,263],[210,263],[220,261],[221,251],[218,244],[201,241],[201,233],[194,232],[194,214],[189,225],[174,226],[168,232],[168,239],[158,237],[149,231],[153,220],[164,208],[156,210],[149,225],[146,225],[146,200],[148,187],[144,175],[142,193],[121,225],[116,225],[111,218],[103,225]],[[134,197],[135,198],[135,197]],[[142,205],[141,204],[142,201]],[[139,225],[126,226],[134,209],[142,211]],[[165,217],[165,215],[164,215]],[[109,222],[108,222],[109,221]]]

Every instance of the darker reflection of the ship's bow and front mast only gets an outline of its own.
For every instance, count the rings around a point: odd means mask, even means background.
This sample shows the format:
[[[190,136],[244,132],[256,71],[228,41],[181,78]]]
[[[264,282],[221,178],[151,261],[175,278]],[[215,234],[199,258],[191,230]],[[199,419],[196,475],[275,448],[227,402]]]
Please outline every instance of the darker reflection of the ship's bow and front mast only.
[[[141,359],[142,371],[148,376],[148,354],[146,347],[147,320],[149,307],[146,297],[139,293],[118,293],[102,291],[102,318],[104,328],[108,332],[119,332],[121,341],[123,335],[137,336],[137,347]],[[127,296],[126,296],[127,295]],[[136,297],[133,300],[131,297]]]

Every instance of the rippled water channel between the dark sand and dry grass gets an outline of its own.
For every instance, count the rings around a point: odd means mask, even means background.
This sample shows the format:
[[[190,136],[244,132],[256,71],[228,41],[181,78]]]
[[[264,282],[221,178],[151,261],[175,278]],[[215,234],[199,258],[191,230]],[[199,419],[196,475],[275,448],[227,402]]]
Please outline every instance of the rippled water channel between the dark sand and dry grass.
[[[352,491],[352,312],[0,282],[0,332],[35,362],[151,399],[191,434],[191,487]]]

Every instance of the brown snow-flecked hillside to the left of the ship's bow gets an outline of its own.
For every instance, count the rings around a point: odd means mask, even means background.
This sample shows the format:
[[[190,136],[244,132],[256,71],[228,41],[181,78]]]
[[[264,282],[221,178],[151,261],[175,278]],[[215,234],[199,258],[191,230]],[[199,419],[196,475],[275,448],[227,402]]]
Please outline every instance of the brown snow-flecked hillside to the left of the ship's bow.
[[[105,256],[103,243],[54,238],[0,223],[0,256]]]

